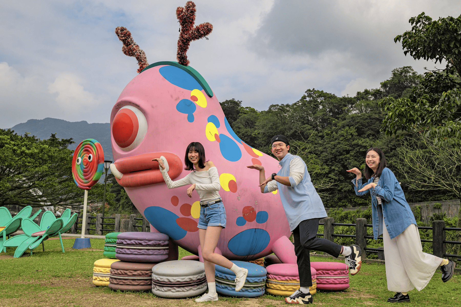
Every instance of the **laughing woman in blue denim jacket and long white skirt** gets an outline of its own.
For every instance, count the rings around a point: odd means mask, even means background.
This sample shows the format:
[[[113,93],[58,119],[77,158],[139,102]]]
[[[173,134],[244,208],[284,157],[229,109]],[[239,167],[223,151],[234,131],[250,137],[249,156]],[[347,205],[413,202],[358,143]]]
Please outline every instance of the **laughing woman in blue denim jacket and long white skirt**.
[[[348,172],[356,175],[352,180],[355,194],[362,196],[370,191],[372,196],[373,237],[378,239],[379,235],[383,235],[387,288],[396,292],[387,301],[410,301],[408,291],[424,289],[438,266],[442,266],[443,282],[448,281],[456,264],[423,253],[413,212],[396,176],[387,168],[383,151],[374,147],[366,151],[366,183],[362,183],[362,173],[358,168]]]

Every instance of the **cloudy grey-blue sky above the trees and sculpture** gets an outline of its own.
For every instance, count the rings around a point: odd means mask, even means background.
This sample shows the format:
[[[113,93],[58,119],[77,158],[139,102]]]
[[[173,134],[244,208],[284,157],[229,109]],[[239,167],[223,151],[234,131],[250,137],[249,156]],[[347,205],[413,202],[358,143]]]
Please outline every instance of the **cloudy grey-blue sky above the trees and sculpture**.
[[[0,0],[0,127],[53,117],[109,122],[136,75],[114,33],[127,27],[149,64],[176,60],[185,0]],[[421,12],[461,13],[458,0],[195,0],[209,40],[191,43],[190,65],[219,101],[266,110],[308,88],[338,96],[379,87],[396,67],[435,64],[405,57],[393,38]],[[443,66],[443,65],[439,65]]]

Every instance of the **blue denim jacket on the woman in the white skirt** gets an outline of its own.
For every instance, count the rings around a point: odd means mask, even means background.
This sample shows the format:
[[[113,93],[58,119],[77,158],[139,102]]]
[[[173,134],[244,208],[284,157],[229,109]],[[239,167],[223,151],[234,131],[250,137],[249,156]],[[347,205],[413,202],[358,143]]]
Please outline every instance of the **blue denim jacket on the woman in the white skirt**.
[[[372,183],[374,177],[368,182],[362,184],[362,179],[359,179],[355,186],[355,178],[352,180],[354,184],[355,194],[362,196],[370,191],[372,195],[372,221],[373,221],[373,237],[378,239],[379,235],[383,234],[384,222],[389,237],[395,238],[401,234],[411,224],[416,224],[413,212],[405,199],[403,190],[392,171],[389,168],[384,168],[381,176],[379,176],[378,184],[373,189],[358,192],[365,185]],[[381,197],[381,206],[378,205],[376,196]],[[418,225],[418,224],[416,224]]]

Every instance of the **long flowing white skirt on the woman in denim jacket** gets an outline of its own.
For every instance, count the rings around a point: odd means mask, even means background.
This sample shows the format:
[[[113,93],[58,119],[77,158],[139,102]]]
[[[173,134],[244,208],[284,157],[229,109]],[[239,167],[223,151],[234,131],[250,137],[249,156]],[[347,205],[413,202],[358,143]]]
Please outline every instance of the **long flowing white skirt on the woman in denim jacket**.
[[[418,226],[411,224],[390,239],[383,223],[383,241],[387,289],[393,292],[423,290],[443,259],[423,253]]]

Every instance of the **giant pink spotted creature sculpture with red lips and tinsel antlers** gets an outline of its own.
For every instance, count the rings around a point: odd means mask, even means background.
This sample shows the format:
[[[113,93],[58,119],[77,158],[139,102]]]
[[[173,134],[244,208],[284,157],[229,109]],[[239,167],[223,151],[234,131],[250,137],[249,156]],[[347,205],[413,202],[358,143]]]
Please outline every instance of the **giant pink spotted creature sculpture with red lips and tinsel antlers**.
[[[193,192],[189,198],[188,186],[169,190],[158,163],[151,160],[164,156],[171,179],[183,178],[189,173],[184,170],[185,149],[190,142],[200,142],[207,159],[218,168],[219,194],[226,208],[227,223],[217,252],[242,261],[274,252],[282,261],[296,263],[280,197],[277,192],[262,194],[258,173],[246,167],[260,164],[271,174],[278,172],[278,161],[245,144],[232,131],[207,81],[188,66],[185,51],[190,41],[209,34],[211,24],[193,27],[195,4],[191,1],[177,8],[177,17],[181,24],[177,59],[182,64],[163,61],[148,65],[130,31],[116,29],[124,53],[138,59],[140,73],[112,108],[112,173],[153,226],[151,231],[165,233],[198,255],[199,197]]]

